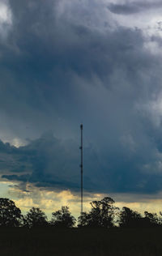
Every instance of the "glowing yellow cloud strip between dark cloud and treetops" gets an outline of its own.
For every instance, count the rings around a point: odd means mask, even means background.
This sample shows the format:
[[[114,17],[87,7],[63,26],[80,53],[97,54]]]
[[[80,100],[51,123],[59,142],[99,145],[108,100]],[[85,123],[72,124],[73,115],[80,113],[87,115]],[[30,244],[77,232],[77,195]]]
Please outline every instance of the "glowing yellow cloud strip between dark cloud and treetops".
[[[40,207],[45,211],[49,219],[51,213],[57,211],[62,206],[70,207],[70,211],[75,217],[80,215],[80,194],[73,193],[70,190],[45,190],[27,184],[24,190],[19,190],[18,186],[13,186],[12,182],[2,182],[2,190],[8,191],[7,195],[15,201],[23,214],[31,207]],[[4,188],[5,186],[5,188]],[[9,187],[10,186],[10,187]],[[1,190],[1,188],[0,188]],[[1,192],[2,192],[1,190]],[[93,194],[84,193],[83,211],[90,211],[90,203],[93,200],[100,200],[105,196],[114,198],[117,207],[130,207],[134,211],[139,211],[143,214],[144,211],[157,212],[162,211],[162,193],[156,195],[135,195],[135,194]]]

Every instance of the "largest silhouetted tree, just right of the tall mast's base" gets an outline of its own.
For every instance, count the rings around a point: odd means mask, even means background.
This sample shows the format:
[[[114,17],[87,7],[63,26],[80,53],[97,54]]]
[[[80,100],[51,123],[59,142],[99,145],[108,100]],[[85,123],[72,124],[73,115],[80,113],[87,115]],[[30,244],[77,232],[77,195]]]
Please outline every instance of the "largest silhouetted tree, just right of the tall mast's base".
[[[83,212],[79,216],[79,227],[112,228],[114,216],[118,210],[113,206],[114,203],[113,199],[109,197],[93,201],[91,203],[92,210],[89,213]]]

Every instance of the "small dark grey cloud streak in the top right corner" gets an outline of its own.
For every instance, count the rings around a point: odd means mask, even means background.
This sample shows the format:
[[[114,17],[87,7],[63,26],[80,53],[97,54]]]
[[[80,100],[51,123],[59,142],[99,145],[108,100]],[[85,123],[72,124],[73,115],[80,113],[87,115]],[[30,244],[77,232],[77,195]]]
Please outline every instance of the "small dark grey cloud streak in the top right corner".
[[[162,7],[161,2],[148,2],[148,1],[134,1],[125,2],[123,4],[110,3],[108,6],[109,11],[117,15],[132,15],[141,11],[150,9],[158,9]]]

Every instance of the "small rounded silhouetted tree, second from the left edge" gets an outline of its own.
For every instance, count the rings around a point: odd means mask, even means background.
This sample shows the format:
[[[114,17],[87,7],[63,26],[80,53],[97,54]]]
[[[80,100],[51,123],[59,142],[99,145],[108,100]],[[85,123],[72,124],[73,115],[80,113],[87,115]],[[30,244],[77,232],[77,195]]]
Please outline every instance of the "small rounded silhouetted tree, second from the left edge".
[[[47,225],[47,216],[40,208],[32,207],[24,217],[24,226],[28,228],[45,227]]]

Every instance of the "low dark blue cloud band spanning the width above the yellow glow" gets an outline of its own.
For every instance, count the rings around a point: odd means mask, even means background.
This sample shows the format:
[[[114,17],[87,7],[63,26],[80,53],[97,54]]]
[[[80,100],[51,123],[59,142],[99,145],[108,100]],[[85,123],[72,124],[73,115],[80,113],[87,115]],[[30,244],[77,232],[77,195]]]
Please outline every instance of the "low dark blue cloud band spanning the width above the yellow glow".
[[[78,146],[74,141],[60,141],[52,134],[45,134],[40,139],[29,143],[28,146],[11,147],[10,151],[6,151],[5,157],[1,154],[2,179],[19,181],[20,189],[25,189],[24,185],[31,183],[48,190],[79,191]],[[7,147],[9,147],[8,144]],[[161,189],[162,173],[154,173],[154,169],[144,173],[142,169],[145,162],[148,163],[148,159],[150,163],[154,161],[154,166],[155,156],[151,159],[150,157],[147,156],[145,159],[143,156],[135,156],[134,159],[128,160],[121,154],[115,156],[108,154],[105,163],[101,161],[100,156],[97,156],[92,147],[85,147],[84,190],[96,193],[156,193]],[[4,169],[4,163],[6,169]],[[20,172],[20,164],[28,169],[22,168]]]

